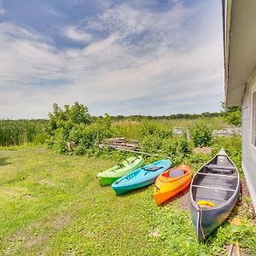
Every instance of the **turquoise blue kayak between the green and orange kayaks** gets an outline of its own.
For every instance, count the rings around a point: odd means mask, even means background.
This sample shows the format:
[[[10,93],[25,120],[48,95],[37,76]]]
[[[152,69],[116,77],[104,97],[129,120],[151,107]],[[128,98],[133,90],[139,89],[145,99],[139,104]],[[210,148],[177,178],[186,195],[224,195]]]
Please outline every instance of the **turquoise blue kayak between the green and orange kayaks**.
[[[148,166],[143,166],[128,173],[124,177],[120,177],[112,184],[112,188],[116,195],[125,194],[131,190],[142,188],[154,183],[156,178],[162,172],[166,172],[171,165],[171,160],[159,160]]]

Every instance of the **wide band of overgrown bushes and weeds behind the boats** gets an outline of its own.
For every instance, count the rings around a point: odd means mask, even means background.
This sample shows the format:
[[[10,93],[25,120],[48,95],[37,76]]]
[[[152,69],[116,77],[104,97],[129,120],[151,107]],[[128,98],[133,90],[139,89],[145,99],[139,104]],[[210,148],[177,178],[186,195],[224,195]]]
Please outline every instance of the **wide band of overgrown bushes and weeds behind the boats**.
[[[183,115],[182,117],[184,117]],[[192,147],[203,147],[212,144],[212,129],[223,126],[221,117],[202,115],[199,119],[123,119],[116,121],[105,114],[104,117],[92,118],[84,105],[76,102],[72,107],[65,106],[62,110],[54,104],[53,113],[49,113],[49,148],[61,154],[100,155],[106,149],[99,149],[108,137],[125,137],[128,140],[138,140],[143,151],[160,153],[166,157],[178,155],[179,158],[191,153]],[[214,119],[216,121],[212,122]],[[210,124],[211,127],[210,128]],[[173,127],[181,126],[182,137],[173,136]],[[189,133],[193,143],[188,140]],[[186,137],[187,135],[187,137]],[[67,142],[76,144],[73,152],[68,152]]]

